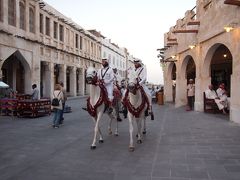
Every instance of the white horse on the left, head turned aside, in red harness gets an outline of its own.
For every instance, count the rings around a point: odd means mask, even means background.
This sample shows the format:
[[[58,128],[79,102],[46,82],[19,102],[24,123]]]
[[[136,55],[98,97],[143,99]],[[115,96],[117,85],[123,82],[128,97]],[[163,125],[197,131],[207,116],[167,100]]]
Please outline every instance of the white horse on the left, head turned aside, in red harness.
[[[90,90],[90,97],[87,100],[87,111],[89,114],[92,116],[93,121],[95,122],[95,128],[94,128],[94,138],[93,142],[91,145],[91,149],[96,148],[96,139],[97,139],[97,134],[99,133],[99,143],[103,143],[103,136],[102,132],[99,127],[99,122],[102,118],[102,115],[105,110],[105,102],[107,98],[106,92],[104,92],[103,85],[99,84],[98,79],[97,79],[97,70],[93,67],[89,67],[86,72],[86,82],[89,84],[89,90]],[[115,117],[115,111],[113,113],[108,114],[110,117],[110,121],[108,124],[108,132],[109,134],[112,134],[112,120],[116,120]],[[116,120],[116,129],[115,129],[115,136],[118,136],[118,121]]]

